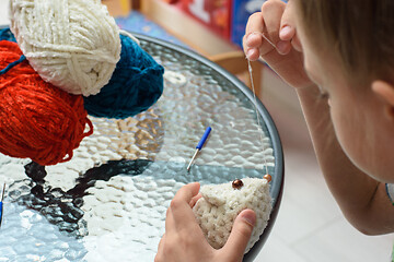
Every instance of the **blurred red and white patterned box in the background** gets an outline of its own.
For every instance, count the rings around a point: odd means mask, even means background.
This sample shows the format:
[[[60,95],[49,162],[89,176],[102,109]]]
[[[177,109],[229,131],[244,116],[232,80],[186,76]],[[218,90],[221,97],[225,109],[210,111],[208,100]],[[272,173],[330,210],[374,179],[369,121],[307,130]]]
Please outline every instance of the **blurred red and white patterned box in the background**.
[[[218,35],[230,39],[233,0],[181,0],[181,9]]]

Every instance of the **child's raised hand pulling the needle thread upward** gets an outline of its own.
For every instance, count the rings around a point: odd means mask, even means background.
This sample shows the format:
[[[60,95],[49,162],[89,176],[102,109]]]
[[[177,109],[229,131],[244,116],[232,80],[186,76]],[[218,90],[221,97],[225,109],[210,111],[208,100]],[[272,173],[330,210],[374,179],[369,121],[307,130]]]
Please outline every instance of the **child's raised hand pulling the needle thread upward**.
[[[293,87],[313,85],[303,67],[301,44],[297,37],[294,8],[291,0],[268,0],[262,12],[247,21],[243,47],[251,61],[263,58],[285,82]],[[269,39],[275,47],[263,37]]]

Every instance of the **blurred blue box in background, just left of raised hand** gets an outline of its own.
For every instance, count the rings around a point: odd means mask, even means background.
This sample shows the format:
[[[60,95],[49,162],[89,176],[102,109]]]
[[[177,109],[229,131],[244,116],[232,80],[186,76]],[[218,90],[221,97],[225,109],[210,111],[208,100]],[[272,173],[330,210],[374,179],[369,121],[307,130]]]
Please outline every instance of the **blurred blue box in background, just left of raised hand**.
[[[242,48],[242,37],[245,34],[246,23],[251,14],[259,12],[266,0],[233,0],[231,41]],[[287,0],[283,0],[287,2]]]

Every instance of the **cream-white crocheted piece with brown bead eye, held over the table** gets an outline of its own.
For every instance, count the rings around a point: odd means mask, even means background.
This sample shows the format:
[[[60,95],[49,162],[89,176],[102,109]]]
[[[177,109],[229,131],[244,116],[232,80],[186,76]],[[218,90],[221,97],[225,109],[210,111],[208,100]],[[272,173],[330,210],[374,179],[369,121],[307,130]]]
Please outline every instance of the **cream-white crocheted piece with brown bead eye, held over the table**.
[[[253,210],[256,224],[246,253],[266,228],[273,204],[267,179],[243,178],[241,181],[202,186],[202,198],[197,201],[193,212],[208,242],[220,249],[228,240],[237,214],[245,209]]]

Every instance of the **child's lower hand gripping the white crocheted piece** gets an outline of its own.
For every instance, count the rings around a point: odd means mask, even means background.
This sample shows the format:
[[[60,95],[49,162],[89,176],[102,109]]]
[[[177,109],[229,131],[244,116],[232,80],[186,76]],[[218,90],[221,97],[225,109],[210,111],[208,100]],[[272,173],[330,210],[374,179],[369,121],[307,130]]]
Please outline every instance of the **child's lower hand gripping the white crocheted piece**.
[[[159,243],[155,262],[241,262],[256,221],[252,210],[236,217],[231,235],[222,249],[213,249],[197,224],[192,207],[200,198],[199,183],[182,187],[166,213],[165,234]]]

